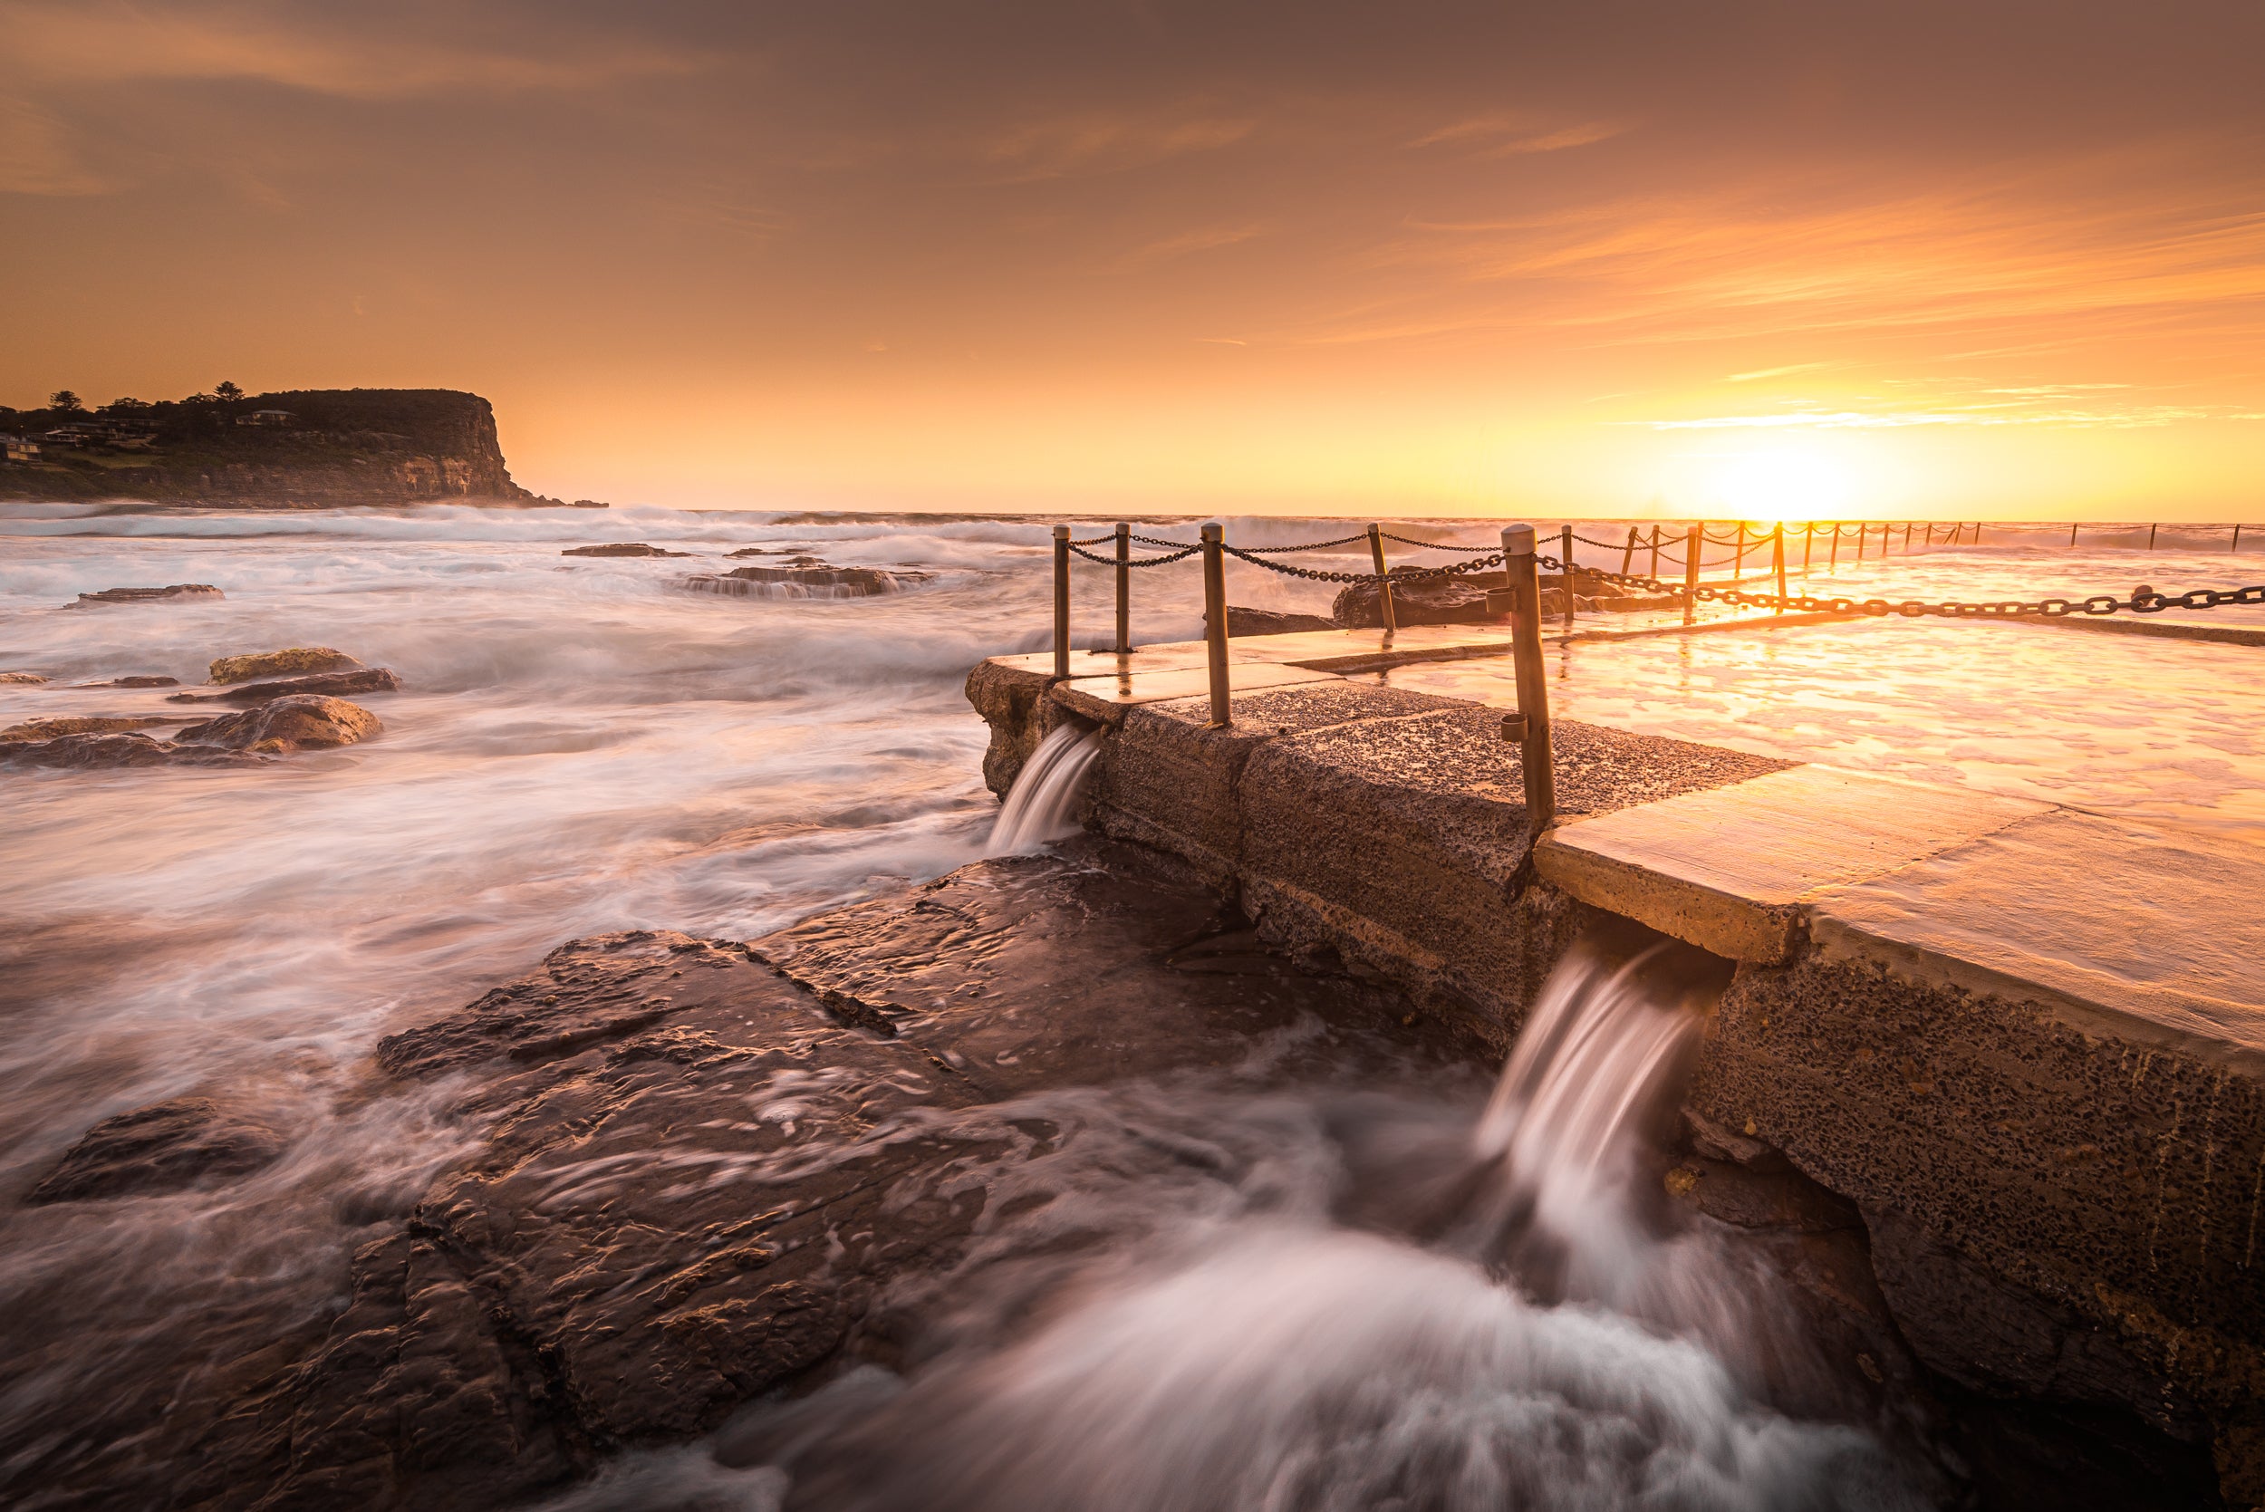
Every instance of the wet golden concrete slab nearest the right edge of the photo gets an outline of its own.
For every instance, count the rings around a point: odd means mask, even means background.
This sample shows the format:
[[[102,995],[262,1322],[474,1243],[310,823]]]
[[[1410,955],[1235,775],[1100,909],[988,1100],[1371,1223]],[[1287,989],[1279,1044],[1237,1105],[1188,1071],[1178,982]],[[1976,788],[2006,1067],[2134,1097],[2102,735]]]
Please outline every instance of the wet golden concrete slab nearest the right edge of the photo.
[[[1812,894],[1810,935],[2075,1028],[2265,1068],[2265,851],[2072,808]]]

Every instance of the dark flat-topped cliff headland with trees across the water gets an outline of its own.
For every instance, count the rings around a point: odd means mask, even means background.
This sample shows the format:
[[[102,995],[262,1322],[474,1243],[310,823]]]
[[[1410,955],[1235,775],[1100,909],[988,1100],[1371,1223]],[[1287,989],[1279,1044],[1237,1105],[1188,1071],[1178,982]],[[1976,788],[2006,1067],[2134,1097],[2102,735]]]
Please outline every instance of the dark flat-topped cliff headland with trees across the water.
[[[57,430],[75,439],[50,439]],[[455,389],[285,389],[233,403],[32,412],[0,430],[36,457],[0,466],[0,498],[233,507],[544,502],[512,482],[496,412]]]

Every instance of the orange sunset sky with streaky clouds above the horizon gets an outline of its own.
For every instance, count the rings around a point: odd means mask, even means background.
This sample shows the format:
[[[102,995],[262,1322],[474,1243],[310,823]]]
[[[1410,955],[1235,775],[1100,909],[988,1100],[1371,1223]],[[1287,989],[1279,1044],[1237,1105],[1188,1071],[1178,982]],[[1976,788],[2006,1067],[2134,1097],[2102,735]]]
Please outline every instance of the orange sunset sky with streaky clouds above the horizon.
[[[2265,5],[0,0],[0,403],[689,507],[2265,521]]]

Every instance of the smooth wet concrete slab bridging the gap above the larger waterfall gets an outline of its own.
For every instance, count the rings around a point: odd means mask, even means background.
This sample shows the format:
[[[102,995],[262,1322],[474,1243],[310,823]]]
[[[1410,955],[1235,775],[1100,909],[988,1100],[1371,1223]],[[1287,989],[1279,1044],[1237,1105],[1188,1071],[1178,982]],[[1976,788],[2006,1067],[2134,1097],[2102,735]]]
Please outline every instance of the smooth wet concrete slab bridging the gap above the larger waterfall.
[[[1533,867],[1583,903],[1717,955],[1783,962],[1801,905],[1826,887],[2045,813],[2050,804],[1805,765],[1558,824],[1533,847]]]

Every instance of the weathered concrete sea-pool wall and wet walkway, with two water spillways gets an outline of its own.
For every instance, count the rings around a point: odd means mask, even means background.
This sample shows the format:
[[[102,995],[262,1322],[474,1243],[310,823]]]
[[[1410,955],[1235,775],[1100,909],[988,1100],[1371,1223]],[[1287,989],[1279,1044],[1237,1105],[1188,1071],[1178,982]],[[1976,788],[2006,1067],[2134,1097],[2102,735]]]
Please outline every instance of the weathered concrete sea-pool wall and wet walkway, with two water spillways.
[[[1200,643],[978,665],[990,785],[1105,731],[1089,828],[1497,1046],[1583,928],[1733,962],[1694,1148],[1855,1202],[1930,1367],[2134,1412],[2265,1505],[2265,853],[1565,720],[1536,833],[1499,711],[1345,679],[1495,627],[1230,650],[1223,729]]]

